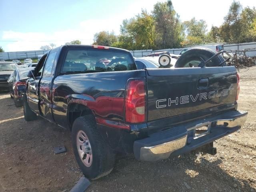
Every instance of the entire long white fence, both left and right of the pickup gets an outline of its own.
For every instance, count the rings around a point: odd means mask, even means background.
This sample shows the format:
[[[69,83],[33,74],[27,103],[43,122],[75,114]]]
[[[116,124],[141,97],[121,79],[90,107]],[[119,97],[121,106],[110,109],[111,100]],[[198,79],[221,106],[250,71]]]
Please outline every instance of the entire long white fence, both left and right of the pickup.
[[[256,48],[256,42],[241,43],[241,44],[224,44],[224,50],[243,50],[247,48]],[[169,51],[171,54],[180,54],[184,48],[176,49],[162,49],[162,50],[134,50],[130,51],[134,57],[144,57],[147,54],[159,52],[159,51]],[[44,54],[48,50],[36,50],[36,51],[19,51],[19,52],[4,52],[0,53],[0,59],[13,60],[13,59],[23,59],[23,58],[37,58],[39,54]],[[246,52],[247,56],[255,57],[256,50],[248,50]]]

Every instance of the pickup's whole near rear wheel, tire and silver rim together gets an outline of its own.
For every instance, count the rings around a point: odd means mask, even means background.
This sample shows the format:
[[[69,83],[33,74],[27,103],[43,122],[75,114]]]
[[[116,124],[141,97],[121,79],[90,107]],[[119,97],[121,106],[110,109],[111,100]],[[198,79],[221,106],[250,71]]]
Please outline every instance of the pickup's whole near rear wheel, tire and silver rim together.
[[[87,178],[97,179],[112,171],[115,154],[100,136],[93,115],[76,118],[72,126],[72,145],[76,161]]]

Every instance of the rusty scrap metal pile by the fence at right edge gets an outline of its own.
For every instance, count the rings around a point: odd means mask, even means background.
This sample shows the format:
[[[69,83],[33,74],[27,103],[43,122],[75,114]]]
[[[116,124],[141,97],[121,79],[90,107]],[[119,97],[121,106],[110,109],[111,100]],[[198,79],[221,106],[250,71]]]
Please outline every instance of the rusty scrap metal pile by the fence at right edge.
[[[256,48],[248,48],[244,50],[226,50],[230,56],[223,54],[224,58],[230,57],[227,62],[228,66],[235,66],[236,68],[251,67],[256,65],[256,57],[249,57],[249,52],[256,52]],[[254,54],[256,55],[256,54]]]

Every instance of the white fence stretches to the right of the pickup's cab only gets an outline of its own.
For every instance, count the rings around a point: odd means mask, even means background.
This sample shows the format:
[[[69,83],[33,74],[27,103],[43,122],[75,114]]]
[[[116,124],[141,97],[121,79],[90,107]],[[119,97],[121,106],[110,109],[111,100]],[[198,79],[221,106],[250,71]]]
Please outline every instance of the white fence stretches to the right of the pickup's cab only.
[[[247,48],[256,48],[256,42],[250,42],[250,43],[240,43],[240,44],[224,44],[224,50],[227,50],[228,52],[231,52],[230,50],[243,50]],[[170,54],[180,54],[180,52],[184,48],[176,48],[176,49],[161,49],[161,50],[134,50],[130,51],[134,57],[144,57],[147,54],[159,52],[159,51],[168,51]],[[246,52],[246,56],[250,57],[256,57],[256,50],[248,50]]]

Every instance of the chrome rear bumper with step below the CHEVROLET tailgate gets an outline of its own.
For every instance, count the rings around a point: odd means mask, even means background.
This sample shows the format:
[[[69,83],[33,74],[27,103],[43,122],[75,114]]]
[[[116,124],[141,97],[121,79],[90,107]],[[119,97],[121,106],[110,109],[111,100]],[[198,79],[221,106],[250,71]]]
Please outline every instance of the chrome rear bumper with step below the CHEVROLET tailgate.
[[[229,111],[151,134],[134,142],[134,156],[138,160],[156,161],[195,150],[240,129],[247,114],[246,111]],[[202,126],[208,126],[208,130],[200,137],[195,136],[196,129]]]

